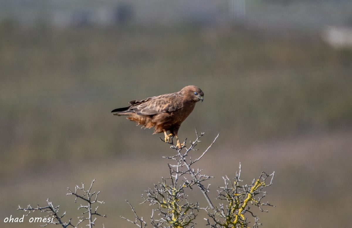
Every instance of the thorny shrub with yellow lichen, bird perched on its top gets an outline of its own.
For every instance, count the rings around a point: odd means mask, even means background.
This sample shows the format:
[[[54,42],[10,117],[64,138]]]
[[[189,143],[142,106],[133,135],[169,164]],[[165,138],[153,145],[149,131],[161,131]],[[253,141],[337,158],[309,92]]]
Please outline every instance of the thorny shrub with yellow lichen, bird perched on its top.
[[[196,139],[190,142],[188,148],[186,140],[184,140],[181,148],[172,145],[171,148],[176,150],[176,154],[164,156],[164,158],[171,161],[168,162],[170,176],[162,178],[161,182],[146,190],[145,194],[142,195],[144,199],[142,203],[149,203],[154,206],[150,217],[152,226],[169,228],[195,227],[197,224],[195,219],[199,210],[205,210],[208,214],[208,217],[205,218],[206,225],[212,228],[248,227],[251,222],[253,222],[254,228],[258,227],[260,224],[258,223],[259,217],[254,215],[251,206],[257,207],[261,212],[267,212],[263,209],[264,206],[272,206],[268,202],[263,202],[263,198],[266,196],[264,188],[272,185],[274,173],[268,175],[263,172],[251,184],[241,185],[240,165],[239,171],[236,172],[233,180],[227,176],[223,177],[224,187],[219,187],[218,196],[215,199],[220,201],[220,203],[218,204],[219,206],[214,206],[208,196],[210,184],[206,183],[213,176],[204,174],[202,169],[195,167],[195,163],[206,155],[219,134],[196,159],[190,157],[190,152],[197,150],[197,143],[201,142],[200,138],[203,135],[204,133],[198,134],[196,130]],[[194,186],[200,189],[208,206],[200,207],[198,202],[192,202],[188,199],[185,189],[195,190]],[[124,219],[138,227],[146,227],[147,223],[143,220],[143,217],[140,218],[137,215],[131,204],[130,207],[134,213],[135,221]]]

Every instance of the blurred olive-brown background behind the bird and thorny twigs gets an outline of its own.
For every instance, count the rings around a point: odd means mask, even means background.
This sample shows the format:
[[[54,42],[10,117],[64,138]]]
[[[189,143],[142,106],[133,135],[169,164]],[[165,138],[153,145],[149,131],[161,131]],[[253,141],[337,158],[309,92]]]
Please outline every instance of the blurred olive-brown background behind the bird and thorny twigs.
[[[244,183],[275,171],[263,227],[351,227],[351,72],[349,0],[0,0],[0,226],[42,225],[4,219],[48,197],[75,223],[67,187],[93,179],[96,227],[134,227],[125,199],[148,221],[175,151],[110,112],[197,85],[179,136],[206,133],[195,157],[220,133],[211,199],[241,163]]]

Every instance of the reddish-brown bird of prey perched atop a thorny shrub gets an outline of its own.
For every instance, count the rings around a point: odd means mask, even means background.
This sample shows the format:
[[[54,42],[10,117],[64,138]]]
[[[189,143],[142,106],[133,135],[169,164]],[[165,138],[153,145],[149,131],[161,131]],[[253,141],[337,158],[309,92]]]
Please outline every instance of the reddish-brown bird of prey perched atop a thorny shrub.
[[[127,115],[127,119],[135,121],[137,125],[144,128],[154,127],[153,134],[164,132],[165,142],[171,143],[171,136],[175,136],[176,146],[180,148],[178,129],[193,111],[196,102],[203,101],[203,96],[204,93],[199,87],[186,86],[176,93],[130,101],[130,106],[117,108],[111,112],[118,116]]]

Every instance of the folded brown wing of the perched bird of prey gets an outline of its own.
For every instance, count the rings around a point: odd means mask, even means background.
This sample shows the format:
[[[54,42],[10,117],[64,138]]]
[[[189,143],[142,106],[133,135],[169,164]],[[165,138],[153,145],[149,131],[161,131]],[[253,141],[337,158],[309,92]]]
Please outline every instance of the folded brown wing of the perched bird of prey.
[[[130,101],[131,107],[138,115],[155,115],[158,113],[173,112],[182,108],[183,96],[180,93],[163,94],[144,100]]]

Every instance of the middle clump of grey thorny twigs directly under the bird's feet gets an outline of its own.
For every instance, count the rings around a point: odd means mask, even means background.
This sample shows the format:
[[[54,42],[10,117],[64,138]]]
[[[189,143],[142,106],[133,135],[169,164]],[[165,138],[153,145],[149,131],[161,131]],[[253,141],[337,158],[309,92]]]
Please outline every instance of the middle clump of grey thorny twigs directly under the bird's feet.
[[[190,142],[189,148],[186,148],[186,140],[183,142],[181,148],[172,145],[171,148],[177,151],[176,155],[166,156],[164,158],[170,159],[174,164],[168,163],[170,177],[164,179],[158,184],[155,184],[153,189],[146,190],[146,195],[142,195],[144,202],[149,202],[150,205],[157,205],[157,209],[152,210],[151,223],[154,227],[194,227],[196,213],[199,211],[199,203],[191,203],[184,193],[185,188],[193,189],[196,185],[201,189],[201,192],[206,197],[209,205],[214,208],[210,201],[207,192],[209,192],[209,185],[203,185],[203,182],[212,178],[212,176],[201,174],[202,169],[194,169],[192,165],[199,161],[210,149],[213,143],[218,138],[216,136],[211,145],[199,157],[192,161],[189,152],[196,151],[197,143],[201,142],[200,138],[204,133],[198,134],[196,130],[196,140]],[[185,152],[182,149],[186,148]],[[188,158],[187,158],[188,157]],[[182,179],[180,179],[182,177]],[[181,183],[180,180],[182,180]],[[168,183],[171,182],[171,183]],[[132,206],[131,206],[132,207]],[[134,212],[136,222],[140,220]],[[127,220],[127,219],[126,219]],[[129,220],[127,220],[129,221]],[[129,221],[135,224],[133,221]],[[167,226],[165,226],[167,225]]]

